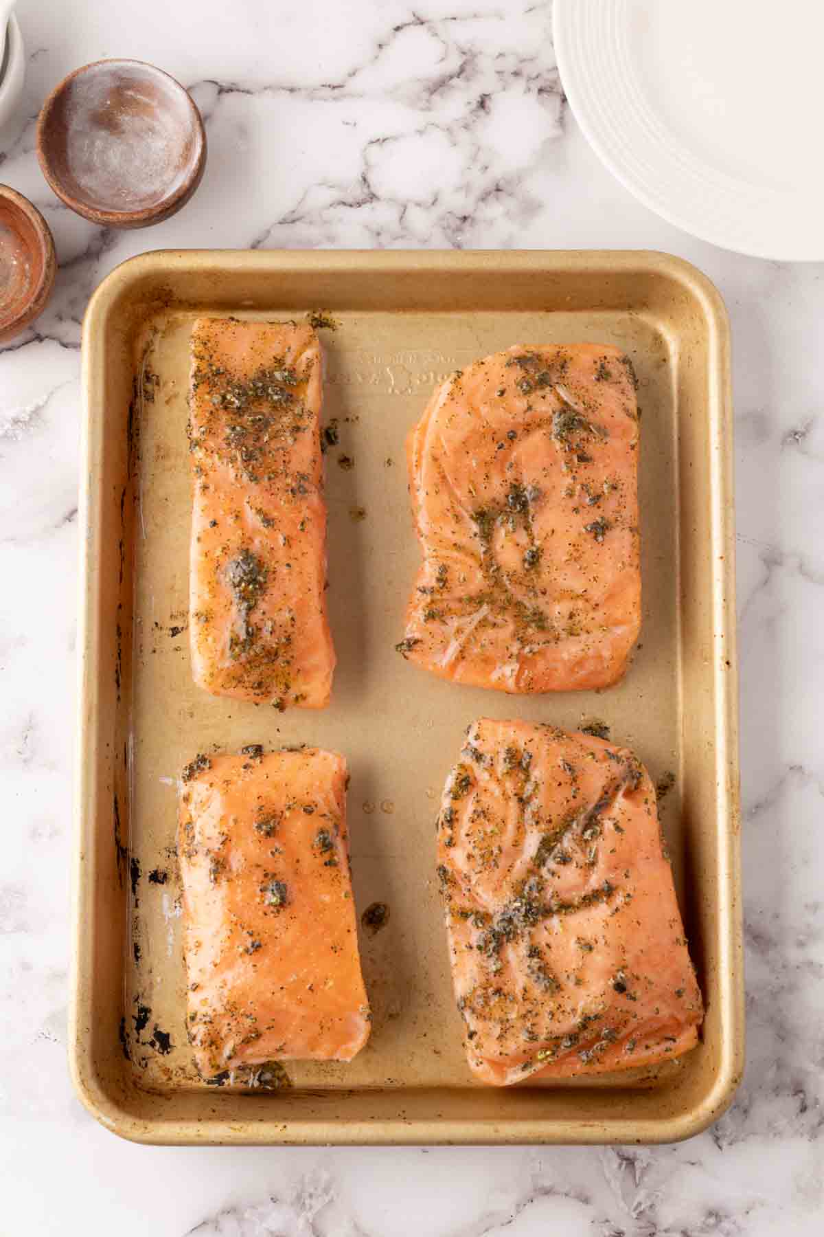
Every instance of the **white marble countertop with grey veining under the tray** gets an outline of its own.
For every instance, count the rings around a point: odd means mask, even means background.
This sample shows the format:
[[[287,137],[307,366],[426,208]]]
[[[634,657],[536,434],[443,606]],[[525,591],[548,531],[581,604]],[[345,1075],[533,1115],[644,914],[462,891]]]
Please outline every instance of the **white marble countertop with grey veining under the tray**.
[[[0,1230],[820,1233],[824,267],[721,252],[631,199],[565,104],[547,0],[20,0],[17,11],[28,78],[0,134],[0,178],[43,210],[61,270],[46,314],[0,351]],[[152,231],[86,224],[37,167],[44,95],[105,56],[168,69],[206,120],[203,186]],[[749,1060],[708,1133],[651,1149],[147,1148],[75,1100],[64,1039],[80,318],[115,263],[168,246],[661,249],[726,298]]]

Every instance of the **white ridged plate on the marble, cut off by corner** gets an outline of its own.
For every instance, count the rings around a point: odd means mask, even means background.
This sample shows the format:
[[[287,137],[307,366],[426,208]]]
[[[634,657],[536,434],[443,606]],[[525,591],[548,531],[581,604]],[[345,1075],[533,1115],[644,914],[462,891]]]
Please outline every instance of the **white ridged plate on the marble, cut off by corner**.
[[[824,4],[555,0],[563,89],[594,151],[724,249],[824,260]]]

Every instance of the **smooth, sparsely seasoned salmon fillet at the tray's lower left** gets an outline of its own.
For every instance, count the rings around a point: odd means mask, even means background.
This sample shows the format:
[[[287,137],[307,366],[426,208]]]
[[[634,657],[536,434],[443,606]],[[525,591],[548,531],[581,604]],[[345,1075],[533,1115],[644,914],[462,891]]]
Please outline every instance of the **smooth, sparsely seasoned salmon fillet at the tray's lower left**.
[[[199,756],[178,854],[188,1029],[214,1077],[350,1061],[369,1038],[346,834],[346,761],[306,748]]]

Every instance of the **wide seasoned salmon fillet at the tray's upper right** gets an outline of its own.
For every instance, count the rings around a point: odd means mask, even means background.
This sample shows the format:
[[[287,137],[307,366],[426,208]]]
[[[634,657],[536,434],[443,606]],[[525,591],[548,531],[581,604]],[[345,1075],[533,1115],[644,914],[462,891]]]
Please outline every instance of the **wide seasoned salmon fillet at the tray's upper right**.
[[[640,630],[631,362],[515,345],[457,371],[408,440],[424,553],[399,652],[500,691],[604,688]]]

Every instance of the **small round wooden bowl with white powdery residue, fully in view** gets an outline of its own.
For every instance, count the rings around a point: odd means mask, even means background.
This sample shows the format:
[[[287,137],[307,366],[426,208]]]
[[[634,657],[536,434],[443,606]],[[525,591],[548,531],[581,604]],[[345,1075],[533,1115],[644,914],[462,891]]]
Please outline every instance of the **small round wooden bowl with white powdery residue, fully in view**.
[[[187,204],[206,166],[200,113],[179,82],[142,61],[69,73],[37,121],[54,193],[105,228],[148,228]]]

